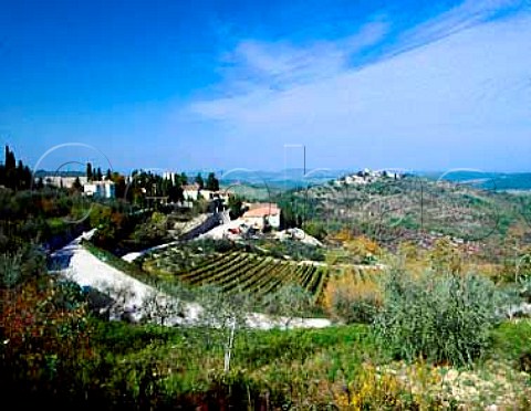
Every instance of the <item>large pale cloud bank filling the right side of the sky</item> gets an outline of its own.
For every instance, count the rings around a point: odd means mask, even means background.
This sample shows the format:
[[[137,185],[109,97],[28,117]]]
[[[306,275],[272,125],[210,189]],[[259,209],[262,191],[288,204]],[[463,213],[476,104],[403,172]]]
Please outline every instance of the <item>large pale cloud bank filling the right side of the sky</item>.
[[[232,68],[240,81],[249,77],[243,86],[188,113],[223,126],[225,143],[243,151],[304,141],[323,161],[333,159],[323,167],[499,167],[488,154],[507,164],[531,152],[531,13],[492,20],[516,2],[477,4],[405,32],[387,52],[393,57],[362,68],[348,66],[348,56],[377,44],[386,23],[304,50],[242,42]]]

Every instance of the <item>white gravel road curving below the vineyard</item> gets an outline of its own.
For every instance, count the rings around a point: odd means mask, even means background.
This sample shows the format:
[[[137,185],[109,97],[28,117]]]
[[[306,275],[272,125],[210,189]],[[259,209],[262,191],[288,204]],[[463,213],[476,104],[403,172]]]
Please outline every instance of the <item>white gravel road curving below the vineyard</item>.
[[[116,270],[115,267],[98,260],[81,245],[81,240],[90,239],[93,232],[84,233],[72,241],[65,247],[52,254],[52,257],[62,260],[66,266],[59,272],[69,276],[81,286],[91,286],[101,292],[111,294],[112,297],[118,295],[124,298],[124,306],[129,309],[142,307],[146,298],[156,296],[157,302],[174,301],[174,297],[164,294],[156,288],[131,277],[129,275]],[[127,289],[127,293],[123,291]],[[114,295],[113,295],[114,294]],[[126,295],[125,295],[126,294]],[[167,325],[195,325],[197,324],[202,307],[196,303],[184,304],[184,317],[174,316],[165,320]],[[152,313],[153,314],[153,313]],[[140,313],[133,317],[138,319]],[[156,316],[153,315],[156,319]],[[289,323],[289,326],[285,324]],[[247,315],[247,325],[251,328],[270,329],[280,328],[324,328],[331,326],[331,322],[325,318],[292,318],[270,317],[264,314],[249,313]]]

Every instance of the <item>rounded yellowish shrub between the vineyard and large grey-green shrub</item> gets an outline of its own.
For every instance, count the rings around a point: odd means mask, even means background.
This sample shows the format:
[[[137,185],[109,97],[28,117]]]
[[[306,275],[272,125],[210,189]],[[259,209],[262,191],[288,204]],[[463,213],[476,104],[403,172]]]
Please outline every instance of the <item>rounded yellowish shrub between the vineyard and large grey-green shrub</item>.
[[[326,283],[324,306],[336,320],[369,324],[382,306],[382,293],[373,278],[347,271]]]

